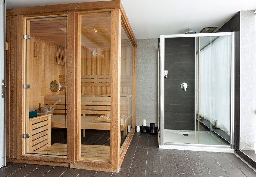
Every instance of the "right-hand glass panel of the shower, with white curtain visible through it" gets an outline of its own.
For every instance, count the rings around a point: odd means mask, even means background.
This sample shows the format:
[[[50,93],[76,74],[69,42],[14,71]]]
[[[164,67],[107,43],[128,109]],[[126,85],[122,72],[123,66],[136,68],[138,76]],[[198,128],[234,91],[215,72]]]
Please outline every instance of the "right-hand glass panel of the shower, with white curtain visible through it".
[[[231,36],[197,37],[195,61],[195,142],[229,145]]]

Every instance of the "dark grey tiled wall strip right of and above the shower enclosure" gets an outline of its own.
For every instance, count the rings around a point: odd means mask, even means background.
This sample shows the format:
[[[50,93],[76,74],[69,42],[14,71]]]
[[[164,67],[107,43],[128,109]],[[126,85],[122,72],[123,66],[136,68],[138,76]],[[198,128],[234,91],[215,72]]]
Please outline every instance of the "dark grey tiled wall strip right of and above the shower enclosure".
[[[217,32],[236,32],[236,152],[239,154],[239,124],[240,124],[240,12],[226,22]]]

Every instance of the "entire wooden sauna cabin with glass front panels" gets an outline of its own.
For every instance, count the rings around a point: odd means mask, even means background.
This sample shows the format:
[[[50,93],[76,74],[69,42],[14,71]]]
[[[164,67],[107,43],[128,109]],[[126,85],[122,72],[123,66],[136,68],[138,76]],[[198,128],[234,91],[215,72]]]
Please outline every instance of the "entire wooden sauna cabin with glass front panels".
[[[6,42],[7,161],[117,172],[136,119],[121,2],[8,9]]]

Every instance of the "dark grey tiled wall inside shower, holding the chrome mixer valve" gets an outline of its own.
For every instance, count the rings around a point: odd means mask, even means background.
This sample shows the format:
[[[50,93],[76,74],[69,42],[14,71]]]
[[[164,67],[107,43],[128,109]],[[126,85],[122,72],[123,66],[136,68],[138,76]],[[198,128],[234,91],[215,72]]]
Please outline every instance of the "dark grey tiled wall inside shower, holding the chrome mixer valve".
[[[165,39],[165,129],[194,130],[195,38]],[[188,84],[184,91],[180,85]]]

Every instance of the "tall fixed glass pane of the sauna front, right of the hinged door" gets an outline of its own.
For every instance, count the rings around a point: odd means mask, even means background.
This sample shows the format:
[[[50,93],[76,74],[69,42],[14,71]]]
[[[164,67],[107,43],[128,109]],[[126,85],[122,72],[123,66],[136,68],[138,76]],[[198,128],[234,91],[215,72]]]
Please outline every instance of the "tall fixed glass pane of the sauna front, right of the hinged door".
[[[80,19],[80,159],[110,162],[111,12]]]

